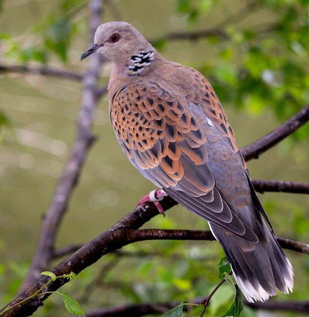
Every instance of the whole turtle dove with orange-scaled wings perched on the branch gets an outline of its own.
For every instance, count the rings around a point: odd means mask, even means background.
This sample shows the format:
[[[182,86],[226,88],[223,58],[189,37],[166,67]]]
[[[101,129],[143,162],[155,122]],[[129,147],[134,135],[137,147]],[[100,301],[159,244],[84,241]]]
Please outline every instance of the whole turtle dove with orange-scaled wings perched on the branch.
[[[251,183],[218,97],[197,70],[166,60],[127,22],[106,22],[81,60],[112,62],[109,117],[118,142],[158,191],[208,221],[249,302],[293,291],[293,267]]]

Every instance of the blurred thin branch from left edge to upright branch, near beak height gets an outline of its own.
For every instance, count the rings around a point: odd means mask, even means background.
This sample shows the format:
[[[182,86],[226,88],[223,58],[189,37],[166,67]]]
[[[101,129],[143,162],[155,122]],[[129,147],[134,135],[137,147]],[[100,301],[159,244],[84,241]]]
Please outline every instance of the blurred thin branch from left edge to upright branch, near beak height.
[[[80,73],[68,71],[68,70],[59,70],[49,67],[33,67],[25,65],[0,65],[0,73],[30,73],[30,74],[41,74],[53,77],[81,80],[83,76]]]

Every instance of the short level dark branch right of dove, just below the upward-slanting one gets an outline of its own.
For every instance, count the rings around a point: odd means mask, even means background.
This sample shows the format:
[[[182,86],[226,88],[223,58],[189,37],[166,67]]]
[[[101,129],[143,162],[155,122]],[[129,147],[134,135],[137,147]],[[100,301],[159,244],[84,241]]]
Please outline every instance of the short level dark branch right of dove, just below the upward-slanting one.
[[[298,182],[284,182],[274,180],[251,180],[255,190],[259,193],[263,192],[284,192],[294,194],[309,194],[309,184]]]

